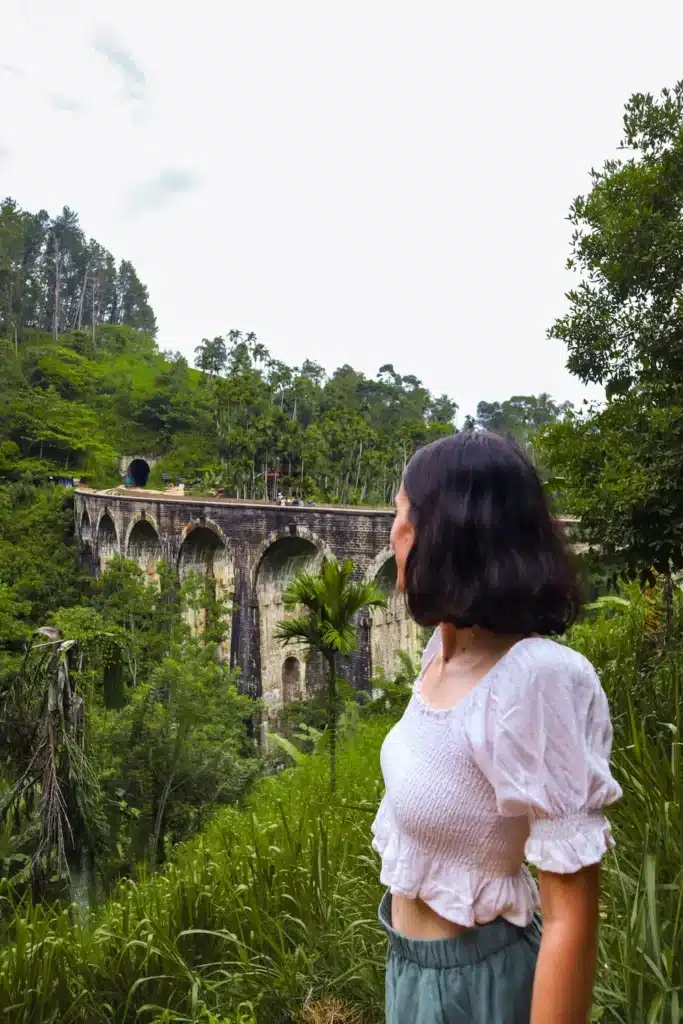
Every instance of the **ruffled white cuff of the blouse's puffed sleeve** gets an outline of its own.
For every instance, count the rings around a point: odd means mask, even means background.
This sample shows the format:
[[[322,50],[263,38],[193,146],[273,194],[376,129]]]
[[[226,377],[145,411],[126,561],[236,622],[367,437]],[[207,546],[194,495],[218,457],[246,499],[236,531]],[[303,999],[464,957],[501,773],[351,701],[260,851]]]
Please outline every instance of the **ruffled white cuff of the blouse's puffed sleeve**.
[[[526,841],[529,864],[554,874],[574,874],[599,863],[614,846],[609,822],[601,814],[556,821],[537,820]]]

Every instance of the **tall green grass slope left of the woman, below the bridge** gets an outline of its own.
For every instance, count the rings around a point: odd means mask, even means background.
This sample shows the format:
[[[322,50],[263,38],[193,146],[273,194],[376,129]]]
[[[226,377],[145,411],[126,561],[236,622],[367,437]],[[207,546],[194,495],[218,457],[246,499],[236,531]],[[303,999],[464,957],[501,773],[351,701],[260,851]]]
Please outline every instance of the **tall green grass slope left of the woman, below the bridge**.
[[[381,1020],[369,828],[386,729],[365,723],[346,744],[334,806],[326,760],[310,758],[265,780],[248,813],[222,812],[163,872],[122,884],[92,922],[16,913],[0,949],[5,1019],[231,1019],[251,1004],[278,1024],[314,1020],[311,1000],[334,997]],[[176,1016],[161,1018],[167,1008]]]

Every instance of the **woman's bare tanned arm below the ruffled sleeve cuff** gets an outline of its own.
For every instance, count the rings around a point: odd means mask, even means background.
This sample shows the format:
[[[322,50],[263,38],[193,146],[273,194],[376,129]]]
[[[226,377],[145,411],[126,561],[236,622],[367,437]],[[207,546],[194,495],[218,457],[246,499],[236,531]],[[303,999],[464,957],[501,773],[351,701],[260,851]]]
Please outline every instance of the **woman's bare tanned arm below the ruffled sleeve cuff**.
[[[540,872],[543,937],[530,1024],[586,1024],[597,958],[600,865]]]

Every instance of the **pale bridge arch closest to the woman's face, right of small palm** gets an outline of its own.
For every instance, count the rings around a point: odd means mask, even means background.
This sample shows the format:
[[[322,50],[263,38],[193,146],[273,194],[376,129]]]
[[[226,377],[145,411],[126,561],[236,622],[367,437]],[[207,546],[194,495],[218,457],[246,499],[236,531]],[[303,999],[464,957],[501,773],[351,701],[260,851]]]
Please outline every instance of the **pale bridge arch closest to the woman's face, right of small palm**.
[[[399,650],[415,660],[420,651],[421,630],[408,611],[403,595],[396,587],[396,559],[385,548],[373,559],[365,574],[387,599],[386,608],[376,608],[371,615],[370,650],[373,677],[393,679],[401,668]]]

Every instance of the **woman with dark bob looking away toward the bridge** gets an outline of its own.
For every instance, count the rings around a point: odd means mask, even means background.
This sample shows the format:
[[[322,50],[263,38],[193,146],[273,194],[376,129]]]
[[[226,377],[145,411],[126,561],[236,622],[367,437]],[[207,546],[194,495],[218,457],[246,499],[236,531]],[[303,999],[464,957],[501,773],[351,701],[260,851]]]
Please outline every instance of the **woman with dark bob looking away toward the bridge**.
[[[580,607],[562,530],[526,457],[465,432],[409,464],[391,545],[437,629],[382,746],[387,1024],[585,1024],[621,791],[595,671],[544,639]]]

